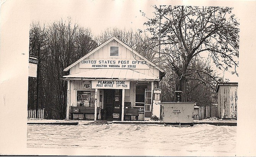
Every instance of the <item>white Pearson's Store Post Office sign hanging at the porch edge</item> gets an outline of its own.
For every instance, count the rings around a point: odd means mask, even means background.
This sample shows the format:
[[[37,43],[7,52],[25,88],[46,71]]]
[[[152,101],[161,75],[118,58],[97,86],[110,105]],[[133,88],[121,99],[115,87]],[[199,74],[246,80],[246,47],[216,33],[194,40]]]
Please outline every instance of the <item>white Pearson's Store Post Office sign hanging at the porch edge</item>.
[[[93,89],[130,89],[130,81],[124,80],[92,80]]]

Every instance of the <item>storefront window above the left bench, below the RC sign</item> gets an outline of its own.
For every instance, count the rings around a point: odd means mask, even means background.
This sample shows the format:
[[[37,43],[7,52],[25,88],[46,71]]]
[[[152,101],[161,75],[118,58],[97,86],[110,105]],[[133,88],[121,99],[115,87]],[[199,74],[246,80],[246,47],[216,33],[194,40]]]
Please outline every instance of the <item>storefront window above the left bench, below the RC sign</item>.
[[[77,91],[77,106],[94,107],[95,91]]]

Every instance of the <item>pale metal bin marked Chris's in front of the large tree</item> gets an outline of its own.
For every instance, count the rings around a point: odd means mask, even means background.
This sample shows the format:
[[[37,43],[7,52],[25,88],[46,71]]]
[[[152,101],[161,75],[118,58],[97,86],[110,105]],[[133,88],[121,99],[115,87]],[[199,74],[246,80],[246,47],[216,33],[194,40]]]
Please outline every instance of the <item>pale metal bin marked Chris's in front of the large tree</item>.
[[[195,102],[162,102],[163,122],[167,125],[191,125]]]

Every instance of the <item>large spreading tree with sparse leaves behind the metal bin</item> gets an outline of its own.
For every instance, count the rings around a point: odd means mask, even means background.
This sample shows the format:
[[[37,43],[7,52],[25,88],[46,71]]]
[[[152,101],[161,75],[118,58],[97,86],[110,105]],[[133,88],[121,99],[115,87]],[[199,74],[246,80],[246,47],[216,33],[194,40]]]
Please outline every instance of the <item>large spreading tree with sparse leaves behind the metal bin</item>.
[[[193,67],[197,57],[209,56],[221,70],[237,74],[239,23],[229,7],[154,6],[154,18],[145,24],[152,37],[151,49],[160,45],[160,58],[166,68],[178,75],[179,90],[186,101],[186,80],[191,71],[205,73]],[[143,13],[145,16],[145,13]],[[159,32],[160,31],[160,32]],[[160,34],[160,36],[159,36]],[[159,42],[160,39],[160,42]],[[190,78],[191,79],[191,78]]]

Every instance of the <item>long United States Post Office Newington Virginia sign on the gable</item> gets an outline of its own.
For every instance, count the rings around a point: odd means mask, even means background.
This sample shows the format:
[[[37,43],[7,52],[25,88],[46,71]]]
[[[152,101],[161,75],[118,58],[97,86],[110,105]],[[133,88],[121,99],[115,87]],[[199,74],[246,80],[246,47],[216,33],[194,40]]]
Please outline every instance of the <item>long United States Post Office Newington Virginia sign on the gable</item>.
[[[149,69],[145,60],[82,60],[79,68]]]

